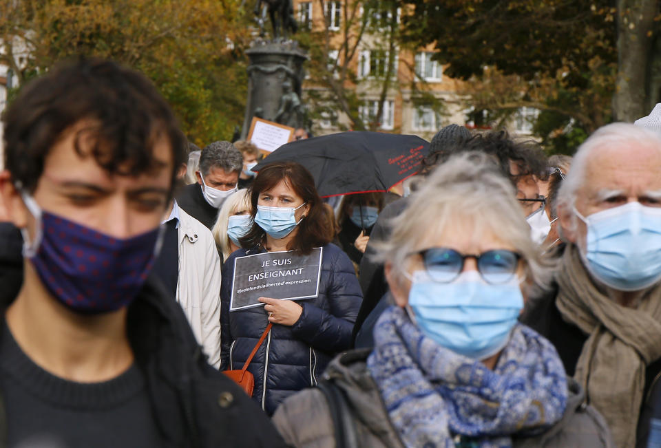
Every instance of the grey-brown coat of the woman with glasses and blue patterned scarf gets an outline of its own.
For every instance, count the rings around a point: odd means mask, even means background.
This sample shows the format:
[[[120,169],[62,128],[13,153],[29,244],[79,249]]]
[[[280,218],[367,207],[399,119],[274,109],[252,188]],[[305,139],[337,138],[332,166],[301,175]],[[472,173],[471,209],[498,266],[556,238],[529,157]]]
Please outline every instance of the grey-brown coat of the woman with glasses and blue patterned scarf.
[[[357,446],[403,448],[397,429],[390,423],[377,383],[366,365],[370,350],[352,350],[337,356],[324,374],[343,392],[355,423]],[[513,437],[515,448],[611,448],[613,442],[602,416],[585,405],[585,394],[567,378],[569,397],[563,418],[538,436]],[[335,425],[328,401],[319,389],[308,389],[285,401],[273,423],[295,448],[334,448]]]

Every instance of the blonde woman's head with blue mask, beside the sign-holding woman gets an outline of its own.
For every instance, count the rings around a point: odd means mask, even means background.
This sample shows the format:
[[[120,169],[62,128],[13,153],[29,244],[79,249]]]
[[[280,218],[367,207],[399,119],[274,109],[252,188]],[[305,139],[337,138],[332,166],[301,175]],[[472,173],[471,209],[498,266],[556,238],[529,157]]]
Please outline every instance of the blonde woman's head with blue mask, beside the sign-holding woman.
[[[247,189],[233,193],[223,202],[216,224],[211,228],[218,252],[222,257],[221,262],[241,247],[239,238],[248,233],[253,225],[251,211],[250,194]]]

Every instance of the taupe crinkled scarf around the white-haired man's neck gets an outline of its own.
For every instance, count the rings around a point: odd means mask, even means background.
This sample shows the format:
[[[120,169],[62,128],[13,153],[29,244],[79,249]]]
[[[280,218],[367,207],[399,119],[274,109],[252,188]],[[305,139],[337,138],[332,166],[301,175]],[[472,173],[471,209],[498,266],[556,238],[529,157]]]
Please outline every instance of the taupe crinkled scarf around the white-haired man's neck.
[[[661,357],[661,286],[647,291],[637,308],[620,306],[598,290],[571,244],[556,280],[560,314],[589,335],[574,377],[606,418],[616,445],[633,447],[645,368]]]

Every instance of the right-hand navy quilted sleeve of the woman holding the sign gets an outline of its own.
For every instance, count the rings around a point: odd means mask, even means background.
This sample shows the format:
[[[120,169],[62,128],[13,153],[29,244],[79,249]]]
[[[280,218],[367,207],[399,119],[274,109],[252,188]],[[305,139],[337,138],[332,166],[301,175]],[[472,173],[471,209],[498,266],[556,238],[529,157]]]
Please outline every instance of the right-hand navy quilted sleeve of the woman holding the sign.
[[[351,331],[363,297],[349,257],[332,244],[324,247],[323,257],[322,263],[328,263],[328,310],[303,301],[303,312],[291,331],[313,348],[341,352],[351,345]]]

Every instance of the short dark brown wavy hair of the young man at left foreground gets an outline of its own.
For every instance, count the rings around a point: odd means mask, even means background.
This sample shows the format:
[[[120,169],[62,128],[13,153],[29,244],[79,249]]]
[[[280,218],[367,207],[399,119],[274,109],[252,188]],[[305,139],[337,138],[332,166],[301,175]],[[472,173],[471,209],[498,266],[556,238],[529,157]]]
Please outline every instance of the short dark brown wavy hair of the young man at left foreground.
[[[30,81],[6,112],[5,167],[14,182],[32,192],[45,158],[63,132],[90,119],[94,146],[88,151],[109,173],[138,175],[154,169],[154,145],[167,138],[172,153],[171,187],[186,162],[186,138],[165,99],[143,74],[98,58],[56,65]]]

